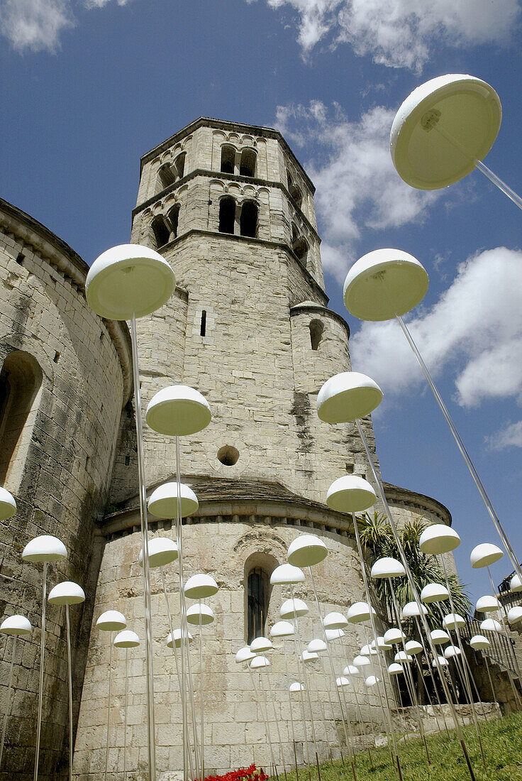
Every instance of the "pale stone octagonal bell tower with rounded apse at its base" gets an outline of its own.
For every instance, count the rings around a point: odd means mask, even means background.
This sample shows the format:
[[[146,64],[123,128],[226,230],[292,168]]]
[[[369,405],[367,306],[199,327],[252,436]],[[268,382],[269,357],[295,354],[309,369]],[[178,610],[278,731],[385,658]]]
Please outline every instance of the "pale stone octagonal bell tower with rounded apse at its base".
[[[286,561],[297,534],[318,534],[328,547],[328,557],[314,570],[325,612],[346,612],[364,598],[351,521],[325,505],[333,480],[346,472],[366,475],[368,469],[353,425],[327,426],[315,412],[322,383],[350,370],[350,355],[348,326],[328,309],[313,196],[314,185],[282,135],[265,127],[200,118],[141,159],[131,241],[161,252],[177,280],[170,301],[138,321],[144,408],[163,387],[183,383],[204,394],[213,415],[204,431],[181,440],[182,480],[200,502],[183,526],[186,576],[209,572],[220,587],[209,600],[215,623],[204,629],[202,679],[196,654],[193,661],[194,687],[198,693],[202,680],[205,697],[208,772],[269,762],[262,711],[234,655],[279,619],[279,606],[289,594],[271,589],[269,578]],[[115,608],[143,636],[133,415],[128,404],[111,512],[98,538],[94,622],[100,612]],[[369,418],[364,426],[373,444]],[[150,492],[175,479],[175,444],[147,426],[144,438]],[[403,516],[424,514],[447,522],[437,502],[389,489]],[[175,538],[170,520],[151,517],[149,524],[153,535]],[[179,626],[176,569],[166,569],[165,577],[174,626]],[[158,572],[152,579],[159,773],[179,769],[183,761],[176,667],[165,647],[169,622]],[[319,626],[309,584],[296,594],[311,608],[311,618],[303,622],[310,640]],[[353,657],[363,643],[360,629],[348,627],[343,654]],[[115,665],[121,683],[123,657]],[[283,670],[279,652],[272,657],[276,699],[269,718],[279,723],[289,758]],[[298,676],[297,669],[291,674]],[[93,624],[75,748],[76,772],[85,777],[94,777],[105,761],[99,739],[107,720],[107,678],[107,638]],[[327,701],[329,680],[319,668],[315,682]],[[140,648],[128,686],[129,770],[139,770],[146,758],[144,690]],[[111,771],[123,769],[123,690],[119,697],[110,714]],[[377,701],[370,696],[368,702]],[[339,717],[335,703],[328,705],[332,742],[338,740]],[[297,743],[303,759],[300,733]]]

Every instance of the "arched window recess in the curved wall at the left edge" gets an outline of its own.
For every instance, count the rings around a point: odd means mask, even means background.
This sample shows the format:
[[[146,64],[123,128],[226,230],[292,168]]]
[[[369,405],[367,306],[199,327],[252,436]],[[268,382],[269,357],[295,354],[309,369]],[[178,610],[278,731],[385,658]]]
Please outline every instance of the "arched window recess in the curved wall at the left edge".
[[[36,358],[19,350],[9,353],[0,373],[0,485],[13,490],[23,473],[42,377]]]

